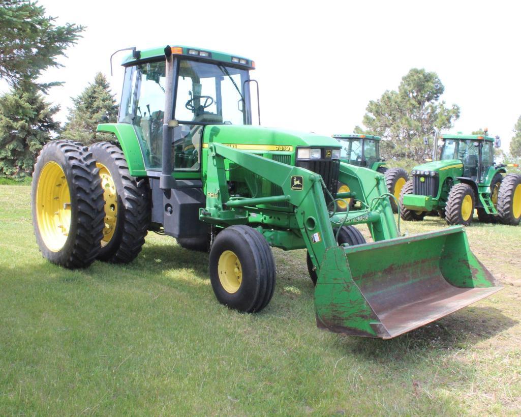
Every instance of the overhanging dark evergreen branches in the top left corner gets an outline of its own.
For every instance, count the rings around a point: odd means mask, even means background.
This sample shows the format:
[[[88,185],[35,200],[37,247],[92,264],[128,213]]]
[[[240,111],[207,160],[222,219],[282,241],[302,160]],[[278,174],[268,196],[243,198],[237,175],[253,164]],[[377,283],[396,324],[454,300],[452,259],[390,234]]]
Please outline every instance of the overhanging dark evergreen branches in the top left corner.
[[[35,80],[48,67],[62,66],[56,60],[76,43],[82,26],[66,23],[56,26],[45,16],[45,8],[27,0],[0,1],[0,78],[11,86],[32,82],[45,91],[52,84]]]

